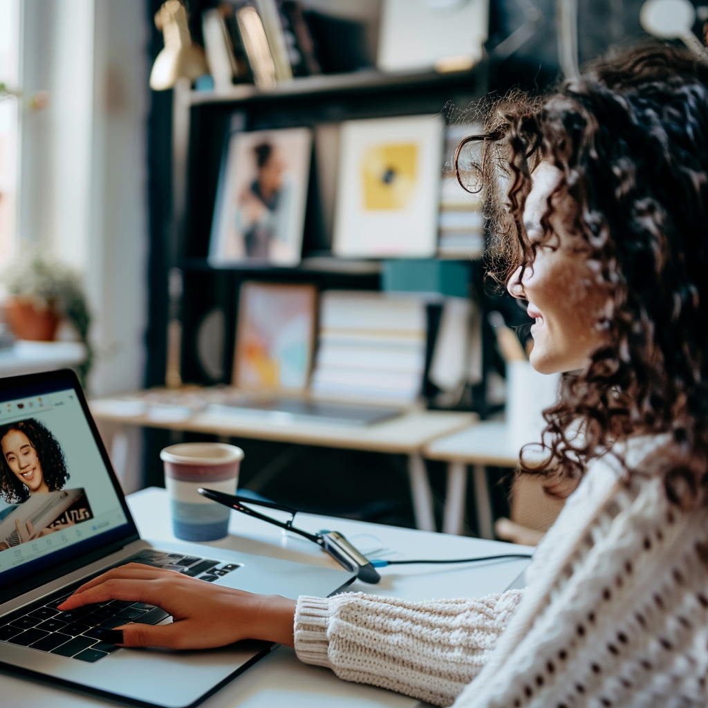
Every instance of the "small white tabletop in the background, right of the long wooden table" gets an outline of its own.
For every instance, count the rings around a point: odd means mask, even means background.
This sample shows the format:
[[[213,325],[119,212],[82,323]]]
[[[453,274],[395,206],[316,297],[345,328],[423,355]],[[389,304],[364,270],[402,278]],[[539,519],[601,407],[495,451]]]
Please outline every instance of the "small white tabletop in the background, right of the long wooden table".
[[[428,459],[496,467],[516,467],[519,452],[518,447],[508,440],[506,423],[496,421],[478,423],[472,428],[438,437],[423,449],[423,455]]]

